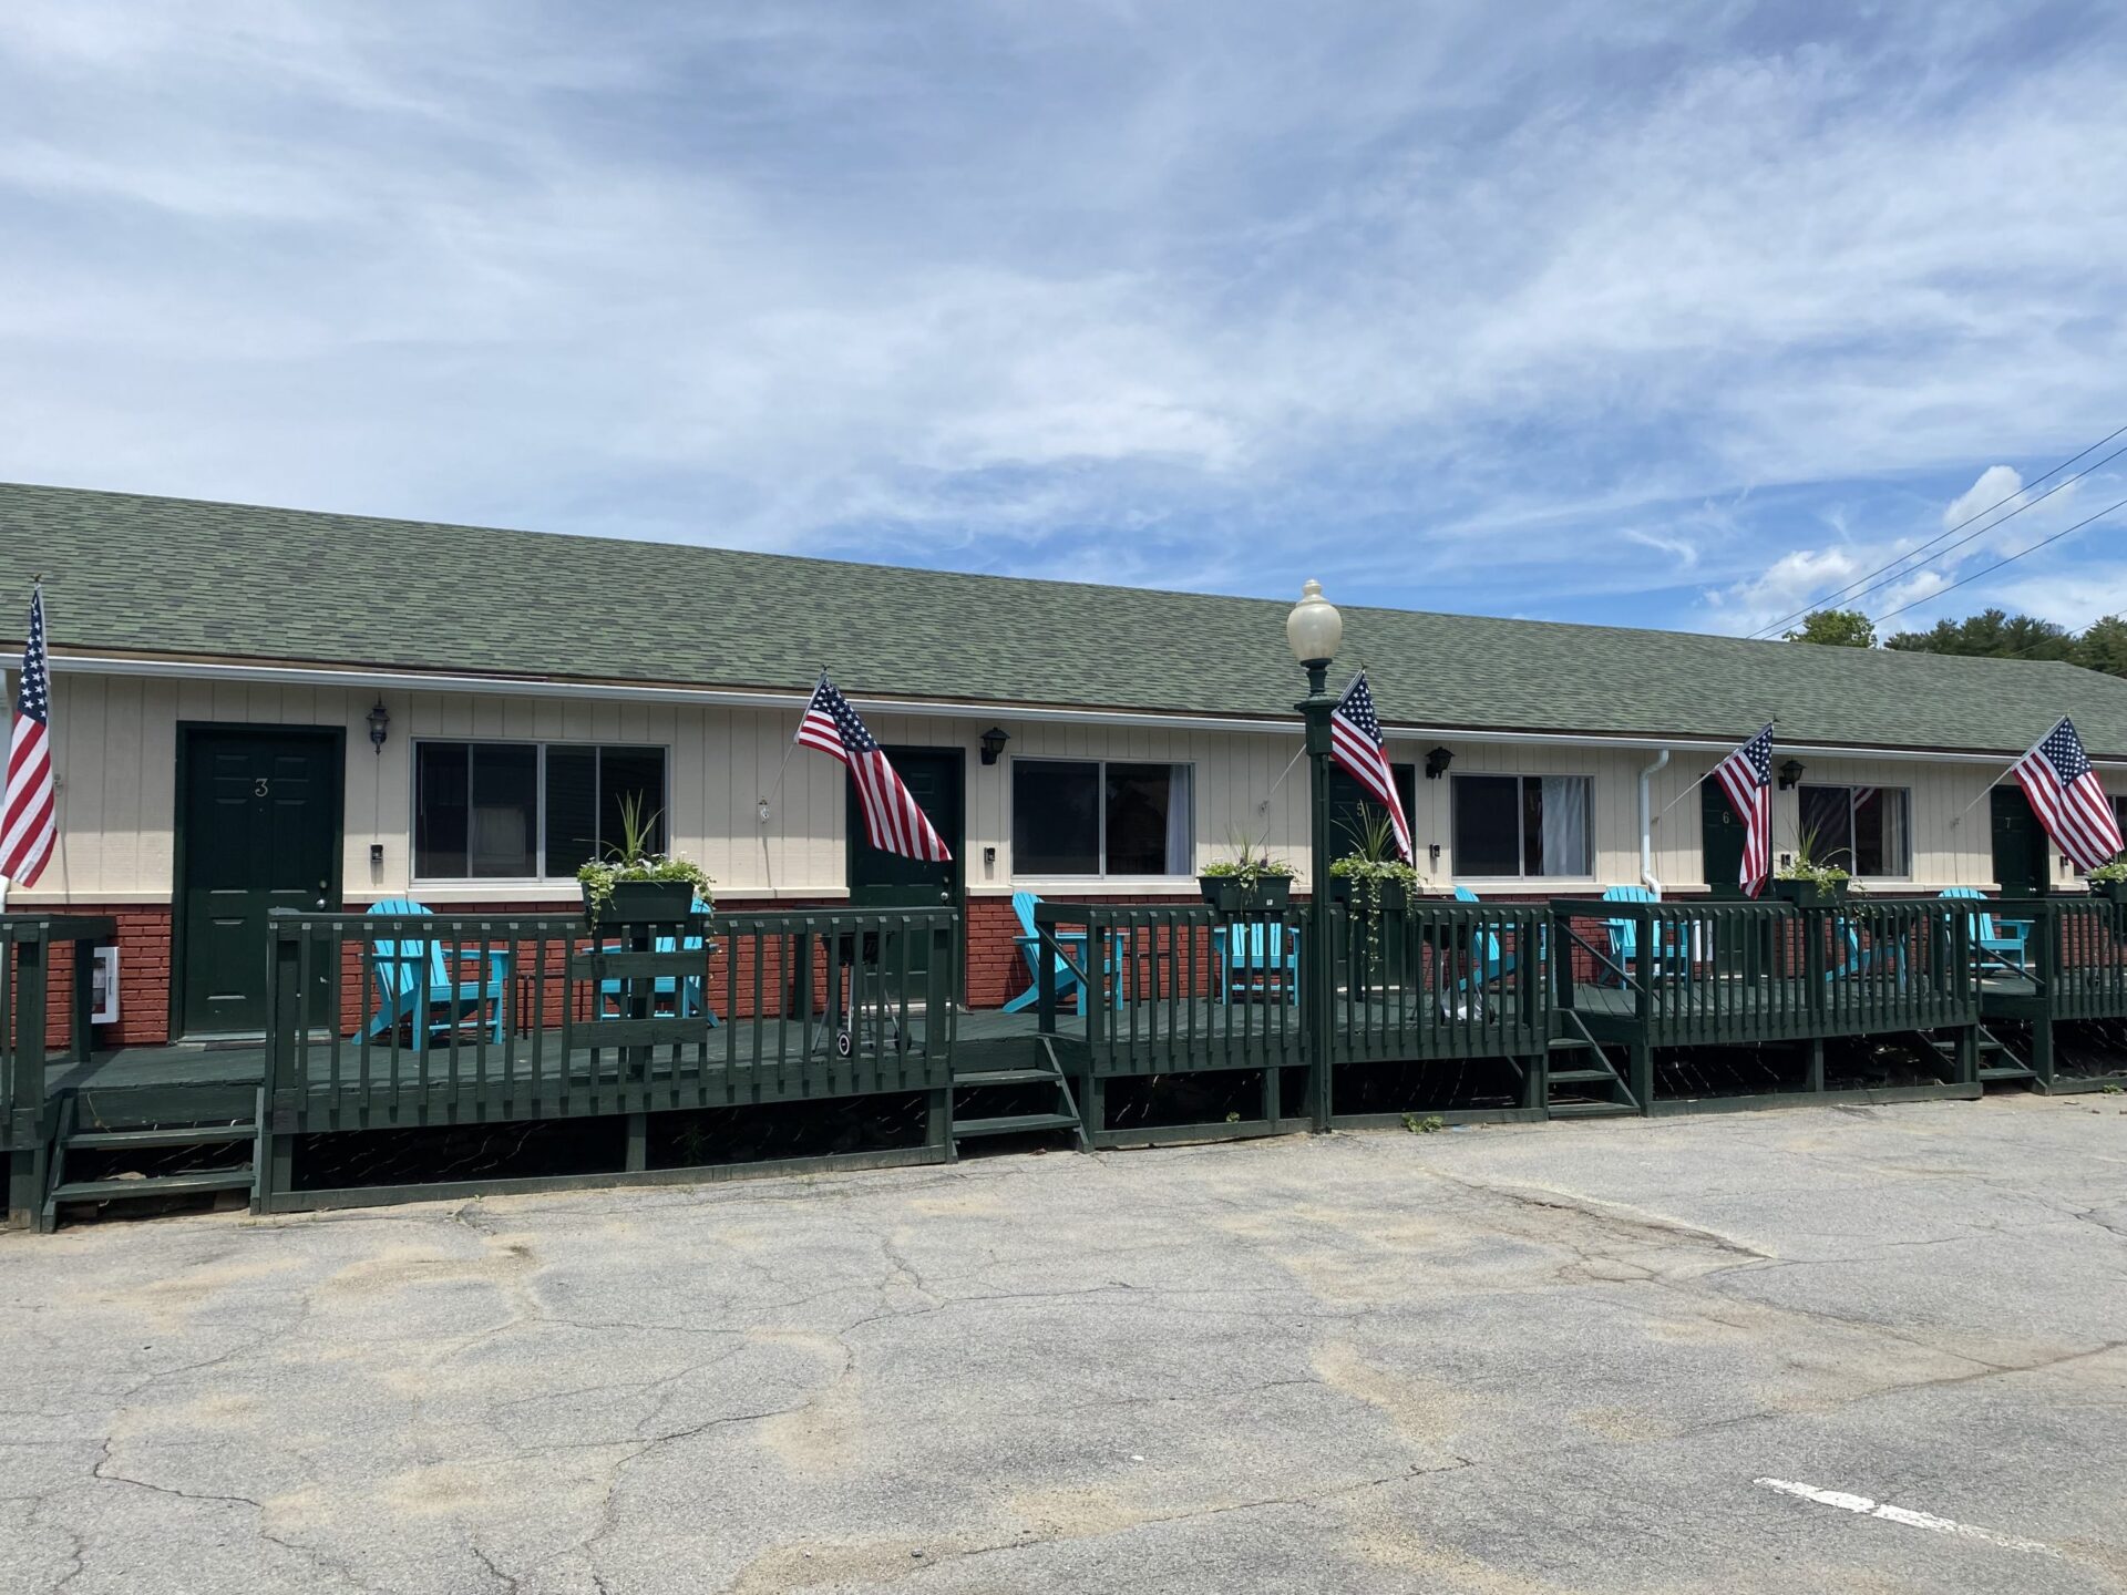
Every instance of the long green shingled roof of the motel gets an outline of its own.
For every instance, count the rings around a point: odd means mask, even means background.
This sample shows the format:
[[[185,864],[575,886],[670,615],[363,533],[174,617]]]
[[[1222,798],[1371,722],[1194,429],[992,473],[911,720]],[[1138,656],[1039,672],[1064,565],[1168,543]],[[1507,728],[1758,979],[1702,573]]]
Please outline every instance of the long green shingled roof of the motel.
[[[687,687],[1289,715],[1285,600],[0,485],[0,638],[43,570],[53,647]],[[1332,593],[1338,598],[1338,593]],[[2019,753],[2127,683],[2065,664],[1344,608],[1383,719]]]

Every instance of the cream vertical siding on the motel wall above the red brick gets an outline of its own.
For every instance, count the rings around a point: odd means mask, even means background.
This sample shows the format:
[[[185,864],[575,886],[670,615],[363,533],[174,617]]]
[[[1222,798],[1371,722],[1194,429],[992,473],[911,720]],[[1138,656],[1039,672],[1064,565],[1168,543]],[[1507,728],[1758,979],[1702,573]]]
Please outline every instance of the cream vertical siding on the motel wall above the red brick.
[[[89,676],[62,670],[53,678],[53,742],[60,776],[62,836],[57,857],[21,902],[164,902],[172,891],[172,825],[177,806],[177,736],[187,721],[251,725],[338,725],[347,734],[345,883],[351,897],[393,895],[413,887],[413,744],[428,736],[523,738],[557,742],[642,742],[668,751],[668,823],[676,851],[700,859],[730,897],[832,895],[844,887],[842,772],[819,753],[791,753],[795,712],[696,708],[589,698],[513,698],[472,693],[383,693],[391,734],[383,753],[368,740],[366,715],[376,691],[349,687],[272,687],[247,683],[172,683],[160,678]],[[883,742],[961,749],[968,768],[966,878],[970,891],[1034,885],[1051,891],[1187,891],[1174,880],[1023,880],[1012,863],[1010,772],[1015,759],[1174,761],[1193,770],[1198,868],[1223,857],[1238,838],[1306,861],[1308,780],[1287,766],[1300,749],[1297,727],[1266,732],[1198,732],[1166,727],[1100,727],[1002,721],[1010,734],[1004,757],[978,757],[987,721],[927,715],[874,715]],[[1427,740],[1393,740],[1397,763],[1423,772]],[[1640,749],[1561,749],[1517,742],[1451,740],[1451,774],[1417,783],[1412,829],[1419,870],[1436,889],[1455,876],[1453,778],[1463,774],[1585,774],[1593,870],[1576,880],[1531,880],[1521,889],[1574,889],[1631,883],[1640,876],[1638,776],[1653,761]],[[785,763],[787,759],[787,763]],[[1668,891],[1704,891],[1699,795],[1691,785],[1712,768],[1706,753],[1680,753],[1653,778],[1655,876]],[[1912,872],[1887,883],[1914,891],[1950,885],[1993,885],[1987,804],[1976,797],[1997,766],[1921,759],[1812,757],[1806,783],[1902,787],[1910,793]],[[1283,780],[1280,780],[1283,776]],[[2127,774],[2106,785],[2127,791]],[[764,825],[757,802],[770,797]],[[1674,804],[1674,806],[1672,806]],[[1797,797],[1774,800],[1774,844],[1797,842]],[[370,846],[383,861],[370,866]],[[1438,861],[1429,846],[1440,849]],[[985,866],[983,851],[995,849]],[[2055,878],[2072,885],[2059,866]],[[1502,889],[1508,883],[1495,883]],[[436,902],[551,900],[566,885],[419,883]]]

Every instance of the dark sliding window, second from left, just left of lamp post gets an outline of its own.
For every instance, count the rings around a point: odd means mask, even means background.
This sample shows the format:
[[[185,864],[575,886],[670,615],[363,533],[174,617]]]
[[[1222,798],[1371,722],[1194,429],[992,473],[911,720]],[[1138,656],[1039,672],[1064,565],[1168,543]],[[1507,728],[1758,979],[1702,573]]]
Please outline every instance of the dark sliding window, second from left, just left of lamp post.
[[[1187,763],[1012,759],[1012,874],[1195,870]]]

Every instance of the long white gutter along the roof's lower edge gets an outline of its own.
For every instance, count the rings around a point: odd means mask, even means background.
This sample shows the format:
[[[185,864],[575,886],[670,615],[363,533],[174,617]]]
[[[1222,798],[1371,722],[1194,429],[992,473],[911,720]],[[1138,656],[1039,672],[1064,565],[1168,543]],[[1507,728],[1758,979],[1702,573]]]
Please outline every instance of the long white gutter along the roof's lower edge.
[[[487,693],[513,698],[598,698],[634,704],[698,704],[704,708],[766,708],[802,710],[810,691],[744,689],[744,687],[651,687],[638,683],[566,681],[555,676],[472,676],[438,674],[423,670],[351,670],[338,666],[253,666],[217,659],[168,659],[168,657],[123,657],[53,653],[53,674],[81,672],[85,676],[151,676],[162,681],[245,681],[281,687],[359,687],[379,691],[440,691],[440,693]],[[1029,706],[998,700],[929,700],[929,698],[878,698],[851,693],[849,700],[876,715],[925,715],[932,719],[970,721],[1025,721],[1053,725],[1119,725],[1119,727],[1172,727],[1187,732],[1242,732],[1300,734],[1300,725],[1278,715],[1176,715],[1149,708],[1066,708]],[[1725,755],[1736,749],[1736,738],[1719,736],[1651,736],[1651,734],[1608,734],[1608,732],[1514,732],[1491,725],[1442,725],[1417,721],[1383,719],[1383,732],[1400,740],[1470,740],[1502,742],[1517,746],[1570,746],[1570,749],[1631,749],[1648,753],[1714,753]],[[1999,766],[2016,759],[2023,749],[2002,753],[1970,753],[1950,749],[1885,749],[1863,742],[1780,742],[1782,753],[1816,755],[1825,759],[1897,759],[1927,763],[1991,763]],[[2127,755],[2091,755],[2091,763],[2127,770]]]

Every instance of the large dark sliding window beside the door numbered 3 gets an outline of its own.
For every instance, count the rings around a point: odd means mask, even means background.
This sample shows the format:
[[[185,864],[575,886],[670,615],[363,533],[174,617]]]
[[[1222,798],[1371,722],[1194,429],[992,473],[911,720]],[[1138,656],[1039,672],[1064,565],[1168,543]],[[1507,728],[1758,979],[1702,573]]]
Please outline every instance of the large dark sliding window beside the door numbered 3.
[[[413,872],[421,880],[562,880],[621,836],[621,800],[666,846],[664,749],[415,742]]]

